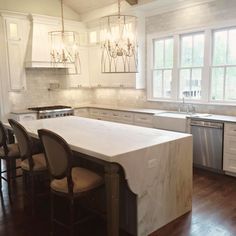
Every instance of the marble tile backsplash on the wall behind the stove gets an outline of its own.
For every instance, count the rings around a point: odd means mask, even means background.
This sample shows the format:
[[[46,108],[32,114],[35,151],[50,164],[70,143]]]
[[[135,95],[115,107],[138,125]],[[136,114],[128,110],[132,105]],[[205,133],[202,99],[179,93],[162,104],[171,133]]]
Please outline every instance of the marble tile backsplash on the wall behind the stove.
[[[9,92],[11,110],[33,106],[88,104],[92,100],[89,89],[65,89],[69,76],[61,71],[55,73],[49,69],[27,69],[26,86],[22,92]],[[50,84],[59,85],[59,89],[49,90]]]

